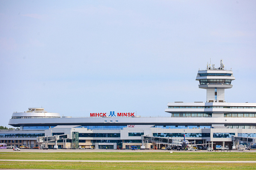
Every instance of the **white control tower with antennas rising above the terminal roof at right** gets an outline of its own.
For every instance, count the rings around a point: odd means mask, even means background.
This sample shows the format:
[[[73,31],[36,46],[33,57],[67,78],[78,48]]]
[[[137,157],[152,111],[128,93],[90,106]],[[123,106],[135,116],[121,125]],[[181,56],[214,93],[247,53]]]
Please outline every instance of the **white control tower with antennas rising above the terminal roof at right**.
[[[235,80],[233,71],[225,70],[223,59],[220,67],[214,68],[214,64],[207,63],[206,70],[199,70],[196,76],[198,87],[206,89],[206,102],[225,102],[224,90],[232,88],[231,81]]]

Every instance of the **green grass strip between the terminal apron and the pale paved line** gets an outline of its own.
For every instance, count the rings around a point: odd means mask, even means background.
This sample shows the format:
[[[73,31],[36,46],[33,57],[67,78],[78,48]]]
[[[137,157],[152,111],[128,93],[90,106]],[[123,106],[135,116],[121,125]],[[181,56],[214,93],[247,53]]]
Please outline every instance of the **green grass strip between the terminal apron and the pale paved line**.
[[[0,159],[34,160],[256,160],[243,152],[0,152]]]

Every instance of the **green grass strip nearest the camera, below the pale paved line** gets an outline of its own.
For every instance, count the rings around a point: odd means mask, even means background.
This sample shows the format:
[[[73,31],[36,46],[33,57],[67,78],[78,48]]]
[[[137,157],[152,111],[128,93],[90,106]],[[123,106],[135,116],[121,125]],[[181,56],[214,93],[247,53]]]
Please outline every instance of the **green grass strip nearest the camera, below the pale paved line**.
[[[3,161],[0,168],[88,169],[88,170],[237,170],[256,169],[255,163],[109,163],[109,162],[15,162]]]

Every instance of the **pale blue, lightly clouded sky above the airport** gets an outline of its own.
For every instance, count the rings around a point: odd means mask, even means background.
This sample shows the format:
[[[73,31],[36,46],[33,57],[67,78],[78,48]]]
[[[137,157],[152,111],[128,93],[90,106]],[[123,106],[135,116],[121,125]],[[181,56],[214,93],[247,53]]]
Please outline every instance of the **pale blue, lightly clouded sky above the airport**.
[[[0,125],[43,107],[64,116],[169,116],[206,101],[198,69],[234,72],[226,102],[256,103],[256,1],[0,0]]]

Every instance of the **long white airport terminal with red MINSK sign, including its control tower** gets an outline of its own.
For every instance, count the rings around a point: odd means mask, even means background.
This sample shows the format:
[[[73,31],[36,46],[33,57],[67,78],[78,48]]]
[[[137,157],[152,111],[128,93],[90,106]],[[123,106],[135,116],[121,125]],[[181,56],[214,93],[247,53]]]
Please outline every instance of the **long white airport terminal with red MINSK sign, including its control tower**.
[[[208,65],[196,76],[199,88],[206,89],[206,102],[168,103],[170,117],[141,117],[133,112],[88,113],[88,117],[61,117],[44,108],[13,113],[9,125],[20,129],[1,130],[0,142],[7,145],[75,149],[161,148],[166,144],[142,142],[142,135],[232,146],[231,136],[256,137],[256,103],[227,103],[225,89],[235,80],[232,70]],[[59,138],[53,138],[58,135]],[[37,137],[45,137],[38,141]]]

